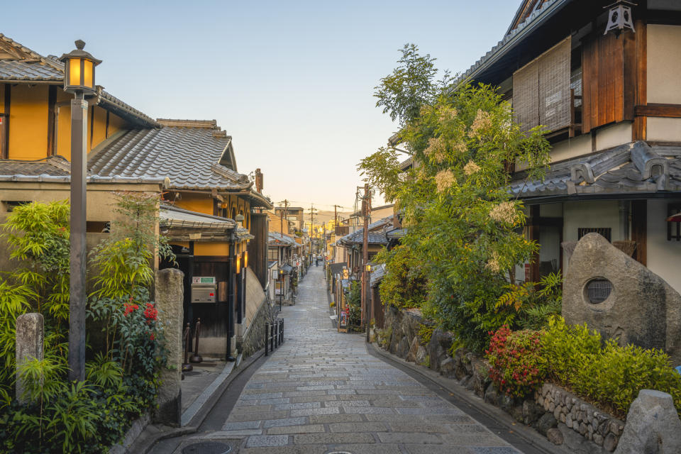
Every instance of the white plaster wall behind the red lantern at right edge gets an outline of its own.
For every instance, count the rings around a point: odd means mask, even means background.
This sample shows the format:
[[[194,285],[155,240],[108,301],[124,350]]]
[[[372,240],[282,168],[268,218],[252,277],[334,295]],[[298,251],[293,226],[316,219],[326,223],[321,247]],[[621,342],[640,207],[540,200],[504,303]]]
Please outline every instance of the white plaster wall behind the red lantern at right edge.
[[[667,205],[679,200],[648,200],[648,270],[681,292],[681,241],[667,240]]]

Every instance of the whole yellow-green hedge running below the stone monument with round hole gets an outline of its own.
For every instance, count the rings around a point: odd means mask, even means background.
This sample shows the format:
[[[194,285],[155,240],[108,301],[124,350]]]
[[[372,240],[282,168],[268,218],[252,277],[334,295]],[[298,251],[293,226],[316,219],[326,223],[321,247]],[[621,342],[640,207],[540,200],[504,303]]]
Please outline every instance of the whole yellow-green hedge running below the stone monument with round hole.
[[[681,414],[681,375],[662,350],[621,347],[612,339],[602,347],[597,331],[553,317],[542,336],[542,355],[553,380],[621,417],[641,389],[668,392]]]

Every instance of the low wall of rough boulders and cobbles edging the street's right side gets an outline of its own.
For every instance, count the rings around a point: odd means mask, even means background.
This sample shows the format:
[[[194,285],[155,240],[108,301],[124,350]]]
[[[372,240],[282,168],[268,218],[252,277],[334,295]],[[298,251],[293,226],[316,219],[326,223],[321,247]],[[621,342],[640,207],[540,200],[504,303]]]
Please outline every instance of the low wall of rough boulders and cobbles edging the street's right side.
[[[423,322],[420,311],[385,310],[384,329],[378,336],[381,348],[407,361],[439,372],[482,398],[499,406],[521,423],[531,426],[572,453],[602,454],[615,450],[624,422],[610,416],[555,385],[544,384],[534,396],[518,399],[500,394],[489,380],[489,363],[459,348],[449,350],[452,333],[436,329],[427,345],[419,343]]]

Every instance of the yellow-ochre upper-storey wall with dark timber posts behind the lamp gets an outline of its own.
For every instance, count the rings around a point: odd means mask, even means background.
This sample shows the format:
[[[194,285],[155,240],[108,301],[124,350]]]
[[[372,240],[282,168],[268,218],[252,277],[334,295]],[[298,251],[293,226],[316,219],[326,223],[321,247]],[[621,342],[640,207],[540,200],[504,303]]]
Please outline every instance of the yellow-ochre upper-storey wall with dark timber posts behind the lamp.
[[[38,160],[48,156],[48,85],[16,84],[11,87],[9,110],[9,159]],[[57,87],[57,105],[72,95]],[[4,113],[4,84],[0,84],[0,112]],[[94,111],[94,117],[93,117]],[[58,106],[55,154],[71,158],[71,107]],[[93,121],[94,118],[94,121]],[[87,114],[87,151],[106,139],[106,110],[93,106]],[[109,114],[109,137],[128,127],[122,118]],[[92,132],[92,134],[91,134]],[[92,135],[92,137],[91,137]]]

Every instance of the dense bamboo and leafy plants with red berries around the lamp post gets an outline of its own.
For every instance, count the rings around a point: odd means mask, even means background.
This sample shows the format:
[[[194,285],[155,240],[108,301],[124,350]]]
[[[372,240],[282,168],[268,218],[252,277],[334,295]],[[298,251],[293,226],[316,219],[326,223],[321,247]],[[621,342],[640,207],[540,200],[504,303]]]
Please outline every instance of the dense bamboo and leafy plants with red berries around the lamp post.
[[[165,356],[149,300],[150,259],[154,248],[169,251],[153,233],[156,204],[152,197],[118,194],[116,210],[125,221],[91,255],[97,272],[88,324],[101,326],[105,341],[101,351],[88,353],[94,359],[78,383],[67,381],[69,206],[18,206],[2,226],[21,266],[0,279],[0,453],[101,453],[153,405]],[[26,383],[26,403],[20,403],[13,387],[14,326],[31,311],[45,319],[45,358],[18,367]]]

